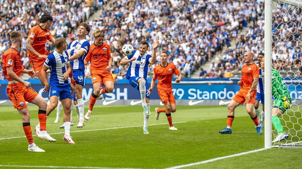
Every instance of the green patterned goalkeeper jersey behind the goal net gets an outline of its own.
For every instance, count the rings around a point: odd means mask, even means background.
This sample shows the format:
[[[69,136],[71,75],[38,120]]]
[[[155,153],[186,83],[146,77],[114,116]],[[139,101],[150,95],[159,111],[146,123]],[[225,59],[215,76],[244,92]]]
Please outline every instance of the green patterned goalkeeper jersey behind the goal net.
[[[271,69],[271,95],[275,97],[275,99],[282,98],[284,96],[290,97],[287,88],[285,88],[280,73]]]

